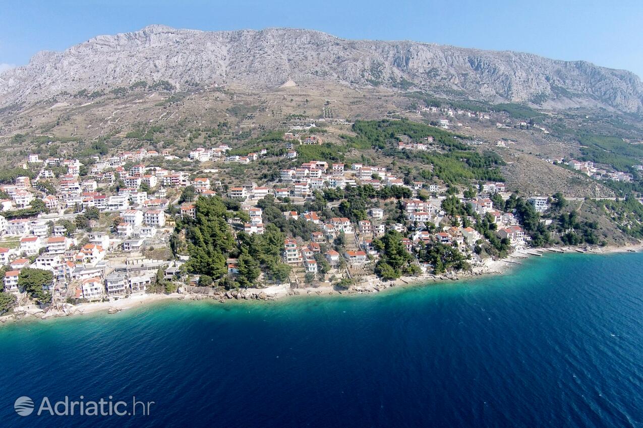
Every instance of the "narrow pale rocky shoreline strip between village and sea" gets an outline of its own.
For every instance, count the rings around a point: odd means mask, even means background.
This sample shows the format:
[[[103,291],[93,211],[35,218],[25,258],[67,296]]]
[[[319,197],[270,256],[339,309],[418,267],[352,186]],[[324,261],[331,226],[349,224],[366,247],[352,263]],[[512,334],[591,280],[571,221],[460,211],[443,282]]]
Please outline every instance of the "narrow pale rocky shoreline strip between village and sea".
[[[139,294],[132,295],[129,298],[115,300],[112,302],[90,302],[79,305],[64,304],[62,309],[43,310],[35,305],[26,307],[16,307],[12,314],[0,316],[0,325],[3,323],[14,323],[21,320],[51,320],[54,318],[66,318],[68,316],[78,316],[84,314],[95,314],[103,312],[105,314],[114,314],[128,309],[146,307],[158,302],[176,301],[195,301],[195,300],[212,300],[225,303],[226,300],[257,300],[258,302],[281,300],[291,296],[352,296],[364,295],[371,293],[381,293],[387,289],[395,289],[403,286],[430,286],[431,283],[445,282],[449,280],[471,280],[489,275],[502,275],[517,266],[522,261],[531,257],[539,257],[547,253],[587,253],[606,255],[610,253],[624,252],[643,252],[643,243],[629,244],[626,246],[606,246],[606,247],[551,247],[551,248],[525,248],[515,250],[507,255],[504,259],[491,260],[487,259],[481,266],[475,266],[469,272],[448,273],[443,275],[433,275],[423,273],[417,277],[401,277],[393,281],[383,281],[368,275],[358,284],[354,284],[347,290],[336,290],[332,286],[305,287],[300,289],[291,289],[287,284],[269,286],[265,288],[250,288],[240,291],[228,291],[226,293],[171,293],[165,294]]]

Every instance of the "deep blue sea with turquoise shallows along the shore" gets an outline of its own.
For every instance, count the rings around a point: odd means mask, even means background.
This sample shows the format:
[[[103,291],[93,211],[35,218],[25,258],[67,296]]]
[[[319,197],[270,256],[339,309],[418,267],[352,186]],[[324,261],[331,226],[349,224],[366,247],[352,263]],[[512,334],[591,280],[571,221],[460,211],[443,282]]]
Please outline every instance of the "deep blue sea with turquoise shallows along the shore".
[[[0,327],[21,426],[642,427],[643,254],[547,255],[379,295],[163,302]],[[17,397],[154,401],[19,416]]]

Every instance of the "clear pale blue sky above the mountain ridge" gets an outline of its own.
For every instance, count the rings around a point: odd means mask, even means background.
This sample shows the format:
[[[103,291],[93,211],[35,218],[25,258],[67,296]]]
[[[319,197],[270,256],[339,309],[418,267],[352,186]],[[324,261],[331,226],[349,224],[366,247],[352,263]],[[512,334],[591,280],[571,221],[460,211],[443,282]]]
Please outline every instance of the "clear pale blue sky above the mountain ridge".
[[[307,28],[586,60],[643,76],[643,1],[3,0],[0,71],[149,24],[196,30]]]

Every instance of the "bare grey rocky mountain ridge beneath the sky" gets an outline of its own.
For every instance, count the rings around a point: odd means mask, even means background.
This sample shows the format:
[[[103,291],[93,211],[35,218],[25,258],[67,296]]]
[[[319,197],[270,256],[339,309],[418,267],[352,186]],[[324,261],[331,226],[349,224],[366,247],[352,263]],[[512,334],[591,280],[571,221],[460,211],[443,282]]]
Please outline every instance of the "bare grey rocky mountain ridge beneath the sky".
[[[310,30],[176,30],[149,26],[44,51],[0,74],[0,106],[105,90],[135,81],[267,89],[288,85],[421,90],[447,98],[577,105],[643,112],[643,84],[628,71],[510,51],[418,42],[346,40]]]

